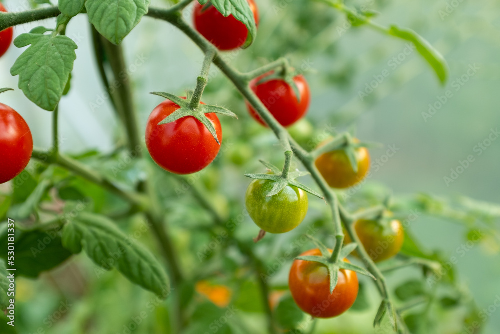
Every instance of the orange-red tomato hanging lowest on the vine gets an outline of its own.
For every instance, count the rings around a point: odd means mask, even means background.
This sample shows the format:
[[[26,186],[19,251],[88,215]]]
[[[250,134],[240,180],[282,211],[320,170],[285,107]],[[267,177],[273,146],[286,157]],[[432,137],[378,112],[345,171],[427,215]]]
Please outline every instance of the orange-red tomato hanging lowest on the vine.
[[[310,255],[321,255],[321,252],[316,248],[300,254]],[[347,259],[344,261],[348,262]],[[357,274],[341,269],[338,283],[330,294],[327,268],[321,263],[303,260],[293,261],[288,285],[298,307],[316,318],[331,318],[342,314],[354,304],[359,290]]]

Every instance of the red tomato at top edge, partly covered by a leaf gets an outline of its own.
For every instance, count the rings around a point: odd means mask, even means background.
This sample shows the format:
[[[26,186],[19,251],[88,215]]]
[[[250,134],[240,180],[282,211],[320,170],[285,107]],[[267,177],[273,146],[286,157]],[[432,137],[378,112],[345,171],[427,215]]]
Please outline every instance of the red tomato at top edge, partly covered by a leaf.
[[[248,0],[253,12],[255,23],[258,25],[258,9],[254,0]],[[248,37],[245,24],[238,21],[231,14],[224,17],[215,6],[206,7],[198,2],[194,5],[194,27],[208,41],[219,50],[232,50],[242,46]]]

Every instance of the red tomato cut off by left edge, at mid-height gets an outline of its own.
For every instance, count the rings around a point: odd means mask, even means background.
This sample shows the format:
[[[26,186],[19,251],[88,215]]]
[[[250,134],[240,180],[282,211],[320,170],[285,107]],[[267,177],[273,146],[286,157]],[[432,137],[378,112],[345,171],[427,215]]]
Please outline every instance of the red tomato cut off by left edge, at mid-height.
[[[33,137],[26,121],[15,110],[0,103],[0,184],[26,168],[33,153]]]

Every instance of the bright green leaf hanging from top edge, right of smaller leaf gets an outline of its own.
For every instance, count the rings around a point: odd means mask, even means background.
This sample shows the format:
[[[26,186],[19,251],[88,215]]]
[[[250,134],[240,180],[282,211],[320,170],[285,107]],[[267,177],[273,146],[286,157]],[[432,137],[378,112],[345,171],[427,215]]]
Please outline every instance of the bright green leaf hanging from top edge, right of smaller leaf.
[[[147,13],[150,0],[87,0],[88,20],[114,44],[121,41]]]

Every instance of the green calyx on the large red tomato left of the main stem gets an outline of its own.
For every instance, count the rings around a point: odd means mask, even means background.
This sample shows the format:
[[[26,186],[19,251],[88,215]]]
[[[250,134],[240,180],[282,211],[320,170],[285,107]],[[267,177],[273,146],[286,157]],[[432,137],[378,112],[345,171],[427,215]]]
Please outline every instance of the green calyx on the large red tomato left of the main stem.
[[[220,115],[225,115],[225,116],[230,116],[234,118],[238,118],[236,114],[234,114],[232,111],[229,109],[215,106],[215,105],[208,105],[208,104],[200,104],[198,103],[197,107],[192,108],[190,106],[191,102],[191,96],[192,93],[188,93],[188,96],[186,99],[183,99],[181,97],[178,97],[176,95],[170,94],[170,93],[164,93],[164,92],[152,92],[151,94],[162,96],[173,103],[177,104],[180,106],[179,109],[175,110],[173,113],[168,115],[165,119],[163,119],[161,122],[158,123],[158,125],[162,124],[167,124],[171,122],[175,122],[178,119],[181,119],[186,116],[192,116],[198,121],[200,121],[210,132],[210,134],[215,138],[215,141],[217,144],[220,145],[220,141],[217,138],[217,133],[215,131],[215,127],[213,126],[212,122],[208,119],[208,117],[205,116],[205,114],[208,113],[215,113],[215,114],[220,114]]]

